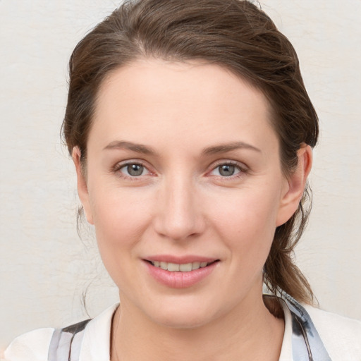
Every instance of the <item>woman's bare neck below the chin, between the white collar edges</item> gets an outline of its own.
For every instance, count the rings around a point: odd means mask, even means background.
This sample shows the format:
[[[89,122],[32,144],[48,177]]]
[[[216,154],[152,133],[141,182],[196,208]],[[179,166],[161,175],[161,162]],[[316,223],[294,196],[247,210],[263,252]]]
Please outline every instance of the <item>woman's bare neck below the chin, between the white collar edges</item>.
[[[245,300],[203,326],[174,329],[153,322],[122,299],[114,315],[111,360],[279,360],[283,320],[269,313],[262,294],[257,300]]]

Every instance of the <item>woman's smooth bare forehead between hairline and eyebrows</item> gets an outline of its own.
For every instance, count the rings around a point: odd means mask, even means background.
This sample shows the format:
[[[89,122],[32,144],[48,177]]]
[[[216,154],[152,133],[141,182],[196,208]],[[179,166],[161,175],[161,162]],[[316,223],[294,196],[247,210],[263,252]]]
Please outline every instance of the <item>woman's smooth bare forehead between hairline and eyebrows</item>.
[[[90,137],[147,143],[183,138],[207,147],[275,137],[269,102],[248,82],[209,63],[147,59],[116,69],[99,89]],[[173,145],[176,143],[173,142]]]

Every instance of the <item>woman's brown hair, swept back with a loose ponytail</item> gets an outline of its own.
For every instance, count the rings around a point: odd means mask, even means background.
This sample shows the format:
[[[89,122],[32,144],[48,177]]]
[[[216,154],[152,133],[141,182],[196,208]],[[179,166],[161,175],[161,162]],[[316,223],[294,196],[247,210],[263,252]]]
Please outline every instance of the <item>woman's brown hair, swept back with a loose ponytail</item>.
[[[318,119],[305,90],[298,57],[271,19],[250,1],[130,0],[99,23],[75,47],[69,63],[68,105],[63,134],[71,153],[78,146],[82,164],[99,86],[116,68],[135,59],[202,59],[223,66],[269,99],[271,122],[279,136],[283,172],[293,172],[297,151],[314,147]],[[264,265],[264,281],[274,293],[312,303],[309,283],[293,262],[307,216],[305,190],[297,212],[276,228]]]

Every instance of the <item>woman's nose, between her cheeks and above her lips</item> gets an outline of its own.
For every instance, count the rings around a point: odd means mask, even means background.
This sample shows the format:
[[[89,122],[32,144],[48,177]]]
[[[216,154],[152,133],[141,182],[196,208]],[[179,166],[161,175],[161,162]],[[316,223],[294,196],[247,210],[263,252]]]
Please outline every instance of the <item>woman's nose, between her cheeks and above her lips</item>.
[[[204,231],[202,204],[197,185],[192,181],[180,176],[164,181],[156,207],[154,228],[159,235],[171,240],[185,240]]]

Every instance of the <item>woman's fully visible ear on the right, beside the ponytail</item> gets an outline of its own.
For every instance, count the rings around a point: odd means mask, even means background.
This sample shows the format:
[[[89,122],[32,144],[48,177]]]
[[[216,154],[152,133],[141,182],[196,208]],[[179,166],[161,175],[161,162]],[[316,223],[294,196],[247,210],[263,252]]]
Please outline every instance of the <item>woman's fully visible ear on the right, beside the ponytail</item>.
[[[298,209],[298,204],[305,190],[307,176],[312,167],[312,149],[310,145],[301,145],[297,152],[298,164],[295,171],[285,179],[276,226],[286,223]]]

